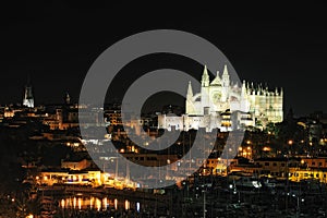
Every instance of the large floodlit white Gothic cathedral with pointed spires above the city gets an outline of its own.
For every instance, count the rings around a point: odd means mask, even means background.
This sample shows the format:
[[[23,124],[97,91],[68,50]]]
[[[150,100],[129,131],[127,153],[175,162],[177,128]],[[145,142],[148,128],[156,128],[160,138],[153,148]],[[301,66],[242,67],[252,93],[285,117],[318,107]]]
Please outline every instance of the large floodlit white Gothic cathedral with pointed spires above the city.
[[[283,92],[276,88],[243,81],[242,85],[230,81],[228,68],[222,75],[217,72],[210,82],[207,68],[202,75],[201,92],[193,94],[189,82],[185,100],[185,114],[172,113],[158,116],[158,128],[171,131],[205,128],[207,131],[220,129],[232,131],[240,128],[254,126],[264,129],[267,123],[281,122],[283,119]]]

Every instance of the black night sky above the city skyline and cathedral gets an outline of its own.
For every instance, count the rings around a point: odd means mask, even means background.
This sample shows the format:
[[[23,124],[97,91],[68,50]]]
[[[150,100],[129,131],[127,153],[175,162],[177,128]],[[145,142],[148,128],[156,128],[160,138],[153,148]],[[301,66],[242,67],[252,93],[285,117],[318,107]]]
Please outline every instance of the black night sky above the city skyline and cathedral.
[[[292,107],[299,116],[314,110],[327,112],[324,8],[249,8],[162,2],[145,8],[102,1],[3,5],[0,102],[21,102],[28,74],[36,104],[61,102],[65,90],[77,101],[83,78],[101,51],[138,32],[173,28],[215,44],[241,80],[283,87],[286,110]],[[136,65],[154,70],[165,66],[164,63],[154,58],[138,61]],[[199,78],[201,68],[185,65],[185,62],[181,68],[198,73]],[[133,78],[128,73],[124,76]]]

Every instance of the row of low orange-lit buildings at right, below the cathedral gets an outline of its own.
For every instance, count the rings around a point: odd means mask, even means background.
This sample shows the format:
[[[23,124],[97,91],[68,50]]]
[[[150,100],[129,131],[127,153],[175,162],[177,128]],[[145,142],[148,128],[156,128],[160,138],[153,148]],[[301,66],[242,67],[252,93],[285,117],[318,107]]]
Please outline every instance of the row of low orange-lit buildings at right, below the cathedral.
[[[270,178],[281,181],[327,183],[327,157],[233,159],[208,158],[203,174]]]

